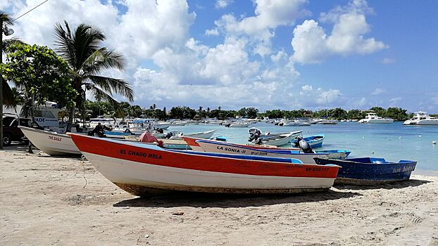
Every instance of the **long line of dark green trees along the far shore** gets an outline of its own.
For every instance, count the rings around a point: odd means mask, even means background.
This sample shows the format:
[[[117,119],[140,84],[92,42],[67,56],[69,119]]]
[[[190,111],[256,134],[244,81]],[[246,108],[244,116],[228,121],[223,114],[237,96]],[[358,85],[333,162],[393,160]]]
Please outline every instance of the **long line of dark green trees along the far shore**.
[[[165,107],[159,109],[156,105],[151,105],[149,108],[142,108],[139,105],[130,105],[130,103],[122,102],[118,104],[118,108],[111,103],[99,101],[87,101],[85,103],[88,111],[88,117],[93,118],[98,115],[108,115],[111,117],[145,117],[155,119],[204,119],[217,118],[229,119],[235,117],[246,117],[255,119],[256,117],[268,117],[270,119],[280,118],[302,118],[302,117],[329,117],[332,119],[363,119],[367,112],[373,110],[380,117],[389,117],[397,121],[403,121],[412,117],[401,108],[380,108],[373,107],[367,110],[344,110],[342,108],[332,108],[329,110],[266,110],[258,112],[257,108],[241,108],[240,110],[223,110],[221,107],[216,109],[200,106],[197,109],[187,106],[176,106],[167,110]]]

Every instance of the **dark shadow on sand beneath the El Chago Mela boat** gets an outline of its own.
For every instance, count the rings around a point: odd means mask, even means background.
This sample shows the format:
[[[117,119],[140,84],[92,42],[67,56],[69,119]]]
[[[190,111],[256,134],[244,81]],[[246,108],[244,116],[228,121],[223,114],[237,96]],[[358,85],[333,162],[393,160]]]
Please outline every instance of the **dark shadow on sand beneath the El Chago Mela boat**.
[[[261,207],[282,203],[319,202],[352,198],[360,193],[326,192],[275,194],[275,195],[242,195],[218,193],[173,193],[172,195],[134,198],[117,202],[113,207]]]

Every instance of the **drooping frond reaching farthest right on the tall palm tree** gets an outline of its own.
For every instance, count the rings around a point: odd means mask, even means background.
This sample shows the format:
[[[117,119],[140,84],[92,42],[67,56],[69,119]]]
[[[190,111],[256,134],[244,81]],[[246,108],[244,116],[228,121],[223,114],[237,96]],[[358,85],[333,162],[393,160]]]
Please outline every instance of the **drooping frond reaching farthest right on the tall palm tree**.
[[[123,79],[113,79],[103,76],[92,75],[88,77],[96,86],[111,94],[111,91],[125,96],[127,100],[134,101],[134,91],[128,82]]]

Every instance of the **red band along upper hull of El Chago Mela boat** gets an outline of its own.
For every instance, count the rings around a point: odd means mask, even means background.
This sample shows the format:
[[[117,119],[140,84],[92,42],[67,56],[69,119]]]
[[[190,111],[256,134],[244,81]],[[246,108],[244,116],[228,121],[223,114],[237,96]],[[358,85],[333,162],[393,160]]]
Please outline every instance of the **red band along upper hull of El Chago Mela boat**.
[[[336,178],[339,169],[339,167],[327,167],[316,164],[238,160],[225,157],[194,155],[190,153],[176,153],[167,150],[141,148],[125,143],[115,143],[113,141],[106,141],[105,139],[78,134],[69,135],[73,138],[77,148],[82,152],[165,167],[230,174],[331,179]]]

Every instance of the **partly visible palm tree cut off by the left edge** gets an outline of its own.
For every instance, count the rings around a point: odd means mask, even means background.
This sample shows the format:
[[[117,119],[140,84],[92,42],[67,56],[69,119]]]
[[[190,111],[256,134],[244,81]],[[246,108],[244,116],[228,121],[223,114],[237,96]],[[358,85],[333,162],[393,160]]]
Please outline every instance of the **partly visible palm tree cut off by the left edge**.
[[[0,19],[3,23],[3,26],[1,27],[1,34],[10,34],[11,30],[8,26],[13,25],[13,18],[11,18],[11,15],[4,11],[0,11]],[[12,44],[21,43],[23,44],[23,41],[20,41],[20,39],[13,37],[11,39],[1,39],[1,53],[6,54],[6,48],[11,46]],[[13,97],[13,91],[11,91],[11,87],[9,86],[8,82],[6,82],[5,79],[1,79],[1,84],[3,85],[3,90],[1,93],[3,94],[3,101],[2,103],[6,105],[6,107],[15,107],[16,104],[15,98]]]

